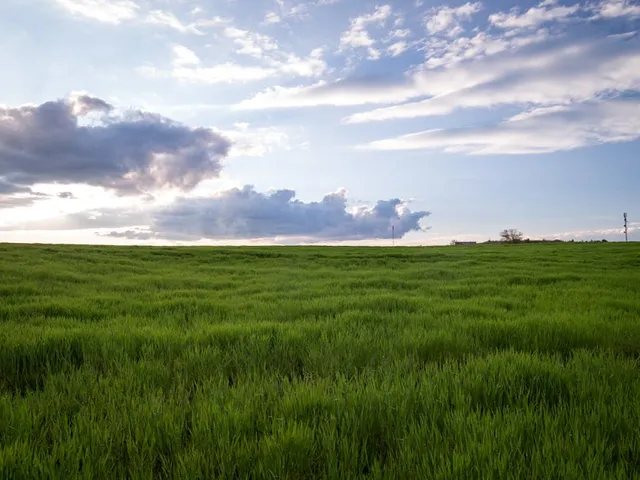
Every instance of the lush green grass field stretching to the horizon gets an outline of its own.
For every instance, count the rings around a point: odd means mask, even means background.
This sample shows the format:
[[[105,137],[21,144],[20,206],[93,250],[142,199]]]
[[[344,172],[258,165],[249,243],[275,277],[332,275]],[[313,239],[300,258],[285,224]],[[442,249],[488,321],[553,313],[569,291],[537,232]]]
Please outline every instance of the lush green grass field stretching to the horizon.
[[[640,476],[640,244],[0,244],[0,478]]]

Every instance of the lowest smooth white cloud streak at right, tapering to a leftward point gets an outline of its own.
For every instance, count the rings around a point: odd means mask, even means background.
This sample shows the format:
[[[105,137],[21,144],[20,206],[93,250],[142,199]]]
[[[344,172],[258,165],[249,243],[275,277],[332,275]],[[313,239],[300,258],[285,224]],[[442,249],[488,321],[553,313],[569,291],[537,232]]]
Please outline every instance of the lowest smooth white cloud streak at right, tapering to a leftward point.
[[[361,148],[429,149],[470,155],[539,154],[640,138],[640,99],[609,99],[531,110],[497,125],[427,130]]]

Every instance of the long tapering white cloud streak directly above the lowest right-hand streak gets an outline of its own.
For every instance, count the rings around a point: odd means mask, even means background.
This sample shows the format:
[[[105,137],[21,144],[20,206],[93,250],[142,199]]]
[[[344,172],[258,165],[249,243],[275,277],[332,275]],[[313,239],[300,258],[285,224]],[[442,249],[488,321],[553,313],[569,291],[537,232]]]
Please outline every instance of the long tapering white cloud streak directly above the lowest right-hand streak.
[[[589,62],[584,59],[589,58]],[[439,92],[442,73],[468,84]],[[426,71],[422,81],[432,98],[354,114],[347,123],[446,115],[460,108],[495,105],[554,105],[601,94],[640,89],[640,49],[635,39],[612,36],[572,42],[546,42],[527,49]],[[429,82],[429,79],[432,79]]]

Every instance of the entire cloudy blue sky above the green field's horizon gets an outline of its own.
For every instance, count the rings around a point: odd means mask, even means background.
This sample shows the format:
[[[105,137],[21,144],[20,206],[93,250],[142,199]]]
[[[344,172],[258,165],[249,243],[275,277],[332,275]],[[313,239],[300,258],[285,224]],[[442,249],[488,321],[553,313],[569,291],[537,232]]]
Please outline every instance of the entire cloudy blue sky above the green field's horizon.
[[[0,242],[640,240],[640,3],[2,0]]]

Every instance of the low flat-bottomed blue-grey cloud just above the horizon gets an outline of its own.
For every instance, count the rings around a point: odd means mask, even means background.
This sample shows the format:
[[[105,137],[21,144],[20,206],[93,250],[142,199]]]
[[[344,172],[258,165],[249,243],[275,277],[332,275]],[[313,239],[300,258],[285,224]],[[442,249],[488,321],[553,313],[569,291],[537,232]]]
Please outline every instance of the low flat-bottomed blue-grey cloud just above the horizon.
[[[251,186],[213,197],[181,198],[158,209],[148,230],[112,232],[112,236],[145,239],[256,239],[305,237],[315,240],[398,238],[421,230],[428,212],[413,212],[400,199],[373,206],[347,208],[346,192],[326,195],[320,202],[295,199],[293,190],[260,193]]]

